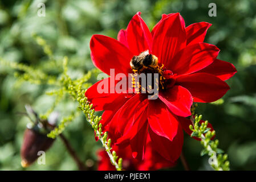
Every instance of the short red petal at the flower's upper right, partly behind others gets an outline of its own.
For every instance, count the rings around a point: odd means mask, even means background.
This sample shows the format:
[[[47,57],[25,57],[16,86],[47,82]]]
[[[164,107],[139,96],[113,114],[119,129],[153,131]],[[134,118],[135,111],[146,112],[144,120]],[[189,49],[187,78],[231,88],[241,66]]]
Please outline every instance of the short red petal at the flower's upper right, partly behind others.
[[[190,26],[186,27],[186,44],[204,42],[206,32],[210,26],[212,24],[207,22],[190,24]]]

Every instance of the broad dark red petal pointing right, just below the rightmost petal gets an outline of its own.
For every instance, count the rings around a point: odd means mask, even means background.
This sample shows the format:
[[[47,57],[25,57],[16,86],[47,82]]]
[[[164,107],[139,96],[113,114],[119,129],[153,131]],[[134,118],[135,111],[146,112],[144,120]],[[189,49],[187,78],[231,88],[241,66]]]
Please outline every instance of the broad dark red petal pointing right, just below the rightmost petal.
[[[208,73],[181,76],[176,79],[176,83],[189,90],[194,102],[214,102],[229,90],[225,81]]]

